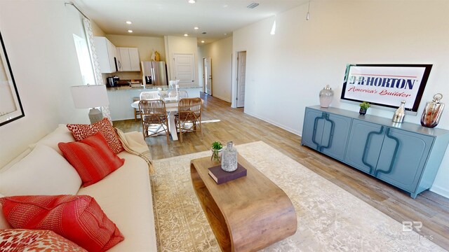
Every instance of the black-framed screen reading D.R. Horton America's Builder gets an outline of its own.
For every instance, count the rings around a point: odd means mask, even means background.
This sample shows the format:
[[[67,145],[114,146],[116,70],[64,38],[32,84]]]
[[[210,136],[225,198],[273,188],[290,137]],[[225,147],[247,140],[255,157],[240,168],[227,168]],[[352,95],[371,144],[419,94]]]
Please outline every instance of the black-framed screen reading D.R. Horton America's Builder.
[[[347,64],[341,99],[417,112],[431,64]]]

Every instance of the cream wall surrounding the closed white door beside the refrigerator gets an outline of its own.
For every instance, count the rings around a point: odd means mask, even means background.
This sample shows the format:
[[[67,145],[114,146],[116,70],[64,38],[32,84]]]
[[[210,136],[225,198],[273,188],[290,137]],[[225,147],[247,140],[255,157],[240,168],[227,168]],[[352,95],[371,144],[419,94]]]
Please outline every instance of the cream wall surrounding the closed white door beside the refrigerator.
[[[195,37],[185,37],[185,36],[164,36],[165,46],[166,46],[166,57],[167,57],[167,71],[168,80],[175,79],[175,67],[173,62],[173,55],[175,53],[186,53],[194,55],[194,71],[195,71],[195,81],[194,85],[199,85],[199,74],[198,74],[198,49],[196,45]]]

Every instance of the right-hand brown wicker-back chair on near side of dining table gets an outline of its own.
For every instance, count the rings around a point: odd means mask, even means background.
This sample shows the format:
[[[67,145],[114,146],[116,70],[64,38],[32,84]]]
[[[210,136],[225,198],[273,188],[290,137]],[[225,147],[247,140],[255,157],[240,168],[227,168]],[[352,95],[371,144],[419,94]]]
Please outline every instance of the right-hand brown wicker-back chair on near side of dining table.
[[[180,131],[180,141],[182,142],[182,134],[185,132],[201,132],[201,99],[200,98],[183,98],[177,106],[177,114],[175,115],[175,124],[177,130]],[[199,125],[199,127],[196,127]]]

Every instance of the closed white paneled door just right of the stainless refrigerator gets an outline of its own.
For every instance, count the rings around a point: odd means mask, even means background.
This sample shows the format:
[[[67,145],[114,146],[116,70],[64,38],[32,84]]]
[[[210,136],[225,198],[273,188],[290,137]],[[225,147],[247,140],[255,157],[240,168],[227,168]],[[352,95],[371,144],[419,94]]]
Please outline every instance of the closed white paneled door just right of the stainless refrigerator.
[[[194,55],[185,53],[174,53],[175,79],[179,84],[193,85],[195,82]]]

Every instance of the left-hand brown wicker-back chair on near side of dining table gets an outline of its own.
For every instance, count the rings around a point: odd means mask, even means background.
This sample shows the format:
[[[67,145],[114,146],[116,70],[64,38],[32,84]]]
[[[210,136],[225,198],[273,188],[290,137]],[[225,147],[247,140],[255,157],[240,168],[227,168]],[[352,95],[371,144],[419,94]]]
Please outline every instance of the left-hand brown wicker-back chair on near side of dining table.
[[[170,132],[168,130],[166,103],[161,99],[143,99],[139,102],[139,109],[143,137],[152,137],[160,132],[166,132],[168,144]]]

